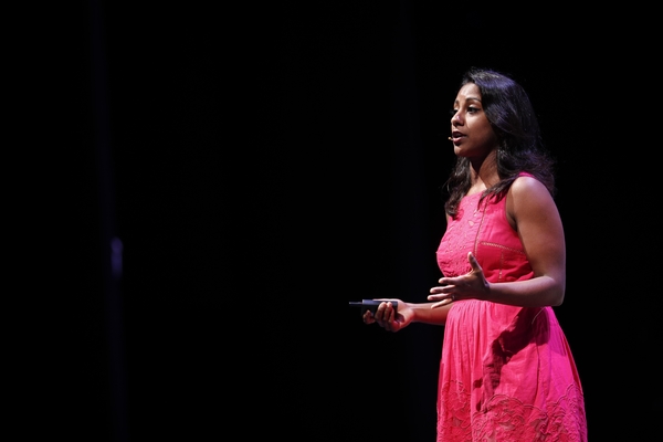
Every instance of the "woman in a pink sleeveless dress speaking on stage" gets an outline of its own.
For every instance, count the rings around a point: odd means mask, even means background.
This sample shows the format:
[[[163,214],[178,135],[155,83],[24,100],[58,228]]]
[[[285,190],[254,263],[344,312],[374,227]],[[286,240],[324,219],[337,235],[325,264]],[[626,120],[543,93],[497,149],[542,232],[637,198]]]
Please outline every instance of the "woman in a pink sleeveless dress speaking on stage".
[[[364,320],[391,332],[445,327],[438,441],[587,441],[582,387],[552,311],[566,290],[554,164],[527,94],[498,72],[471,69],[450,139],[457,159],[440,285],[430,303],[385,299]]]

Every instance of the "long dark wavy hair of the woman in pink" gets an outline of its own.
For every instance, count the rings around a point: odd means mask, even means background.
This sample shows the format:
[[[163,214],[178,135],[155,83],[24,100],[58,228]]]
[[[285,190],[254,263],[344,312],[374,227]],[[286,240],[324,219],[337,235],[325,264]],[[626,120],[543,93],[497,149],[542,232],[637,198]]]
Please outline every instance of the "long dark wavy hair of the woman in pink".
[[[499,181],[486,189],[482,200],[494,196],[504,198],[520,172],[529,172],[555,196],[555,159],[545,149],[538,119],[525,90],[508,76],[492,70],[471,67],[461,86],[474,83],[482,96],[484,112],[497,135],[496,155]],[[454,218],[461,199],[471,187],[470,159],[457,157],[449,179],[445,212]]]

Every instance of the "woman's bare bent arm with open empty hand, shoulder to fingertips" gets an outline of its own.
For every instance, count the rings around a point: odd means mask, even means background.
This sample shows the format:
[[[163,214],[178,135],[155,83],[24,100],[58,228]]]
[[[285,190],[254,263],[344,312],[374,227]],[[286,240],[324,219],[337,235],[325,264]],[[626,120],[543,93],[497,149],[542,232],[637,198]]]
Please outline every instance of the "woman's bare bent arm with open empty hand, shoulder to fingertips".
[[[431,288],[433,306],[457,299],[486,299],[524,307],[560,305],[566,290],[566,244],[561,219],[548,190],[530,177],[516,179],[507,194],[509,221],[520,236],[534,276],[528,281],[488,283],[472,255],[467,259],[472,271],[457,277],[440,278],[440,286]]]

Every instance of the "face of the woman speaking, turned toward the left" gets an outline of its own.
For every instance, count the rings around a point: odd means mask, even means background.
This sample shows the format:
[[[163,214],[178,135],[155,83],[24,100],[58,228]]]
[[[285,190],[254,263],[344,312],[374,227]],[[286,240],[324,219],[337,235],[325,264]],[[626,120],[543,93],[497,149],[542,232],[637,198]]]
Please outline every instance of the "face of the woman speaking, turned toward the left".
[[[497,136],[484,113],[481,93],[474,83],[461,87],[453,103],[451,138],[454,152],[460,157],[485,158],[497,147]]]

